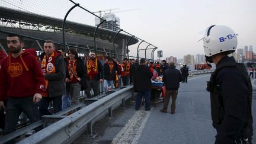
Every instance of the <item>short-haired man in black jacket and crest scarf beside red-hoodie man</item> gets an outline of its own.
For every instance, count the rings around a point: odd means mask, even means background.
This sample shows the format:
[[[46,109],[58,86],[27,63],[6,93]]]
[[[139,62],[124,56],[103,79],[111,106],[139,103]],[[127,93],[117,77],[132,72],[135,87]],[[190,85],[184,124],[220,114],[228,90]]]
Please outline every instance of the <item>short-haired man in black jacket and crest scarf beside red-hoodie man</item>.
[[[56,50],[52,40],[44,42],[44,53],[41,55],[41,70],[46,79],[46,92],[39,103],[41,116],[50,115],[48,107],[50,101],[53,101],[53,113],[62,110],[62,95],[66,94],[65,87],[65,62],[62,54]]]

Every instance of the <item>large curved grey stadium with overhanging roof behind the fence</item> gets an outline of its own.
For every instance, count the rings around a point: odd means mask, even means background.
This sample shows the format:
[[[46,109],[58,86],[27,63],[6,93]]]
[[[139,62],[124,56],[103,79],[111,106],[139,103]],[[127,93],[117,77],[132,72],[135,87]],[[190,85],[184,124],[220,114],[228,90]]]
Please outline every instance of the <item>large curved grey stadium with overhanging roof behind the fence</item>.
[[[44,15],[39,15],[39,14],[33,14],[30,12],[25,12],[25,11],[18,11],[17,9],[9,9],[9,8],[4,8],[0,7],[0,21],[6,21],[8,20],[10,23],[14,24],[30,24],[30,25],[36,25],[38,27],[38,30],[29,30],[25,28],[20,28],[20,27],[0,27],[0,31],[5,32],[5,33],[14,33],[14,31],[17,31],[18,33],[28,33],[30,36],[36,36],[37,38],[40,39],[47,39],[49,37],[55,36],[55,41],[58,43],[63,43],[62,39],[62,23],[63,20],[58,19],[58,18],[53,18],[53,17],[47,17]],[[54,32],[49,32],[49,31],[41,31],[40,27],[45,27],[46,25],[51,25],[53,30],[55,32],[59,33],[54,33]],[[56,30],[55,30],[56,28]],[[87,45],[90,47],[94,47],[94,31],[95,31],[94,26],[91,25],[86,25],[86,24],[80,24],[80,23],[75,23],[72,21],[66,21],[65,23],[65,30],[66,31],[71,31],[71,33],[66,33],[66,41],[67,43],[73,43],[73,44],[81,44],[81,45]],[[106,49],[113,49],[113,38],[117,32],[116,31],[111,31],[107,30],[104,28],[98,28],[97,30],[97,47],[105,47]],[[107,38],[106,38],[107,37]],[[116,43],[115,45],[119,49],[123,49],[123,46],[120,46],[121,43],[123,43],[123,40],[126,40],[126,43],[128,39],[130,39],[130,35],[119,33],[118,36],[116,37]],[[100,39],[99,39],[100,38]],[[120,43],[119,43],[120,41]],[[132,44],[136,44],[139,40],[136,39],[135,37],[132,37],[129,41],[129,46]]]

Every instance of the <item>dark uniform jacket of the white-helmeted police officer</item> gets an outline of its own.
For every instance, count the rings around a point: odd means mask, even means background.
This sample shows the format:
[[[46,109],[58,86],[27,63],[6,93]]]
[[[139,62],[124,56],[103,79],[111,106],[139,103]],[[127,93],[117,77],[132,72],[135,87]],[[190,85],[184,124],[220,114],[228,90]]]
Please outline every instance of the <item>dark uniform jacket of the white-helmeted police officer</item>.
[[[223,57],[207,84],[213,127],[217,130],[216,143],[235,143],[238,137],[249,135],[251,81],[245,67],[240,66],[240,72],[236,65],[233,57]]]

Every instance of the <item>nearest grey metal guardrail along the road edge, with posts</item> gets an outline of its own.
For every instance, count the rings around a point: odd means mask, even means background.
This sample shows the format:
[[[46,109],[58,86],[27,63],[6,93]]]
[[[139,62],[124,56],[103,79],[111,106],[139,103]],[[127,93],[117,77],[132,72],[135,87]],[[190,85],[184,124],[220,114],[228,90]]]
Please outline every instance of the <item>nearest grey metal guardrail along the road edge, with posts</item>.
[[[18,143],[71,143],[85,131],[86,127],[92,133],[92,121],[105,110],[108,110],[109,116],[112,116],[113,105],[119,101],[124,105],[125,100],[132,97],[132,88],[133,86],[130,85],[87,105],[69,116],[59,117],[59,121]],[[47,116],[44,119],[56,119],[56,116]]]

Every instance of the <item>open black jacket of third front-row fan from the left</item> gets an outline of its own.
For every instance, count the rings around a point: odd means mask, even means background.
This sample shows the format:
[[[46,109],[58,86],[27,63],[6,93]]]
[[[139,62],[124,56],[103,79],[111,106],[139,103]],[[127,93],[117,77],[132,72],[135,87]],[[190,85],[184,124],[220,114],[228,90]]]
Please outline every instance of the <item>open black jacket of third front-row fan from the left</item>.
[[[66,66],[68,66],[68,61],[66,60]],[[79,84],[81,84],[81,91],[87,88],[87,82],[86,82],[86,76],[87,71],[85,70],[84,62],[80,57],[76,60],[76,73],[78,74],[78,77],[81,78],[81,81],[79,81]],[[69,78],[69,71],[68,67],[66,67],[66,78]]]

